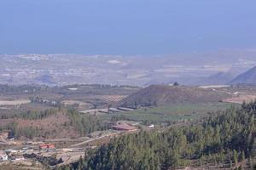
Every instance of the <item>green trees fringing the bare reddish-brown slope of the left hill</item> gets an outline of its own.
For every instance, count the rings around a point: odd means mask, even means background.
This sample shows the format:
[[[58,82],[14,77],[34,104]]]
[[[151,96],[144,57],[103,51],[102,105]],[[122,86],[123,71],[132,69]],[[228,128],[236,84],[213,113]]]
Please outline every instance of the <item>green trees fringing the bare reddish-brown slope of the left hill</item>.
[[[26,111],[20,114],[15,115],[3,115],[2,119],[7,118],[21,118],[23,120],[42,120],[48,116],[56,115],[56,109],[49,109],[45,111]],[[84,136],[88,133],[92,133],[98,130],[105,130],[108,128],[108,124],[102,122],[102,120],[97,116],[89,116],[84,115],[81,116],[78,111],[74,109],[62,110],[66,112],[66,115],[69,117],[70,121],[65,122],[62,126],[64,127],[74,127],[76,131],[80,133],[81,136]],[[56,133],[55,130],[45,130],[42,127],[33,127],[31,125],[26,125],[24,127],[20,127],[15,119],[13,122],[6,123],[5,125],[0,127],[0,132],[8,131],[9,138],[19,139],[20,137],[26,137],[28,139],[32,139],[34,137],[44,137],[48,138],[52,136],[52,134]]]

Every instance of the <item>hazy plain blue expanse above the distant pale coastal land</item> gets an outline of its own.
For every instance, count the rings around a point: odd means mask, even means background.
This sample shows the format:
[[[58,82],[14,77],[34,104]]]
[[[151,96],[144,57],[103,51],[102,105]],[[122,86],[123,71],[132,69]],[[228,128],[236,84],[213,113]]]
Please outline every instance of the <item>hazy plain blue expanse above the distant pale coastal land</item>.
[[[255,0],[0,0],[0,54],[256,47]]]

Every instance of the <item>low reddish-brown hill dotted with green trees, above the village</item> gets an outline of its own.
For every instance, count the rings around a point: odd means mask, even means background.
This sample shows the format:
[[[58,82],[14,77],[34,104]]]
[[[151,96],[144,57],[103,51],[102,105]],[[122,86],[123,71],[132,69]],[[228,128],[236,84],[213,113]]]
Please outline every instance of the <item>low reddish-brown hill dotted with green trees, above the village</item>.
[[[97,116],[80,115],[75,110],[27,111],[2,114],[0,133],[8,132],[15,139],[79,138],[107,125]]]

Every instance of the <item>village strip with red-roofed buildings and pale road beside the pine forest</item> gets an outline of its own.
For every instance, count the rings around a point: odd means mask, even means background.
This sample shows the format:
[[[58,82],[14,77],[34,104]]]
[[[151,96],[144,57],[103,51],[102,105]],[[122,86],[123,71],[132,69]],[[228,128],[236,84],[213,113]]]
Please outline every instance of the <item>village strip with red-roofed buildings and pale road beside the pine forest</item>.
[[[0,150],[0,165],[3,162],[19,162],[21,164],[29,162],[44,164],[47,162],[50,167],[67,165],[78,161],[80,157],[84,157],[87,150],[108,143],[112,138],[126,133],[137,133],[139,131],[138,124],[139,122],[117,122],[108,131],[91,133],[80,139],[21,141],[7,139],[7,134],[2,134],[0,146],[10,147],[6,150]],[[145,126],[145,128],[152,129],[154,125]]]

